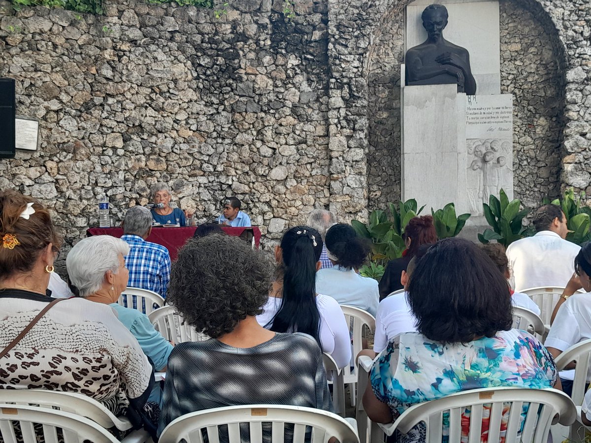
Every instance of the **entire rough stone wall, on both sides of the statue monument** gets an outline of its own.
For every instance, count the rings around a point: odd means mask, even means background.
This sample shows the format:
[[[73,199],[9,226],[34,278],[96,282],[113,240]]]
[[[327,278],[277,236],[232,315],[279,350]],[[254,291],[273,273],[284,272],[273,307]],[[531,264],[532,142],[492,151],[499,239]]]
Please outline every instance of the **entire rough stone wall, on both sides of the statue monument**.
[[[40,120],[41,139],[38,151],[0,161],[0,188],[53,208],[66,240],[61,258],[96,224],[103,193],[121,220],[157,181],[201,221],[238,196],[267,246],[314,207],[348,222],[398,197],[397,117],[376,95],[391,93],[379,81],[400,62],[403,31],[392,23],[408,1],[298,0],[291,19],[281,0],[228,3],[216,19],[207,9],[134,0],[105,2],[101,17],[14,12],[0,0],[0,76],[17,81],[17,113]],[[541,177],[531,178],[538,194],[556,193],[557,183],[591,193],[591,5],[505,3],[502,50],[515,53],[506,57],[506,90],[535,84],[522,66],[538,58],[550,66],[557,54],[543,93],[516,116],[525,154],[515,157],[548,151],[521,176]],[[519,8],[542,20],[550,56],[535,38],[521,40]],[[388,39],[389,50],[378,50]],[[371,63],[378,56],[382,63]],[[394,121],[384,129],[376,116]],[[548,147],[540,128],[550,126]],[[531,188],[525,183],[517,196]]]

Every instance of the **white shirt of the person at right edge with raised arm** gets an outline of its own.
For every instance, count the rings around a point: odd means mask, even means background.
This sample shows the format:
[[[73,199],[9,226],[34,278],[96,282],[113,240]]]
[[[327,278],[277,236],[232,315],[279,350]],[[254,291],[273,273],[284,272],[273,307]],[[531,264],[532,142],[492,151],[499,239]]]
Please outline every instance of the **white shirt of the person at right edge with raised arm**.
[[[558,308],[554,323],[550,327],[545,347],[553,347],[560,351],[591,338],[591,293],[576,292]],[[572,380],[574,370],[561,371],[560,377]],[[587,373],[591,380],[591,366]]]

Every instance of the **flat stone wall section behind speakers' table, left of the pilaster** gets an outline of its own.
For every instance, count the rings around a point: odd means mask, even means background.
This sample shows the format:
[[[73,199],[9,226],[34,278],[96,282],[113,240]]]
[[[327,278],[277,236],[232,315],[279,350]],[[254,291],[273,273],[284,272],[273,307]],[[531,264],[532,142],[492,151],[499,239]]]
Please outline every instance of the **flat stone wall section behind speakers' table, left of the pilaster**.
[[[241,0],[219,20],[133,0],[106,17],[5,9],[0,76],[17,80],[41,145],[0,161],[0,188],[53,207],[64,252],[103,193],[121,220],[157,181],[200,220],[238,196],[267,245],[329,206],[327,8],[298,2],[289,22],[281,8]]]

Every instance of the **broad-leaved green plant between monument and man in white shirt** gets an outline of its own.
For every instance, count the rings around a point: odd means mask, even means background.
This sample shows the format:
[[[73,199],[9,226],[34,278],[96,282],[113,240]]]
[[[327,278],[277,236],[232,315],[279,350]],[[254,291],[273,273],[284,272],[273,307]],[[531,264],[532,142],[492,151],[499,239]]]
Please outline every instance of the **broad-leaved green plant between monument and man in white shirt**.
[[[489,203],[483,203],[484,216],[491,229],[485,229],[482,234],[478,234],[480,243],[489,243],[491,240],[501,243],[507,247],[515,240],[522,239],[531,234],[531,230],[522,226],[524,217],[530,211],[529,209],[519,210],[521,201],[517,198],[509,201],[507,194],[501,189],[499,198],[489,197]]]

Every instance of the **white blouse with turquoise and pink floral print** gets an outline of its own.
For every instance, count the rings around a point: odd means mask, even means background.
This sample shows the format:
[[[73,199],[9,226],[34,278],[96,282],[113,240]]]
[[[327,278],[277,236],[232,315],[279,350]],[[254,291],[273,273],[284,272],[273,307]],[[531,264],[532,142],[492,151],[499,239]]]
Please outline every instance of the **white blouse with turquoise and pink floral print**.
[[[462,390],[551,387],[557,371],[552,356],[540,341],[525,331],[512,329],[467,344],[441,344],[420,333],[398,335],[379,354],[370,377],[376,398],[390,407],[396,419],[416,403]],[[469,411],[464,415],[466,429],[462,429],[462,435],[467,441]],[[504,422],[506,426],[506,419]],[[485,434],[486,426],[482,429]],[[402,443],[424,442],[424,424],[398,437],[397,441]],[[487,440],[486,435],[482,438]]]

